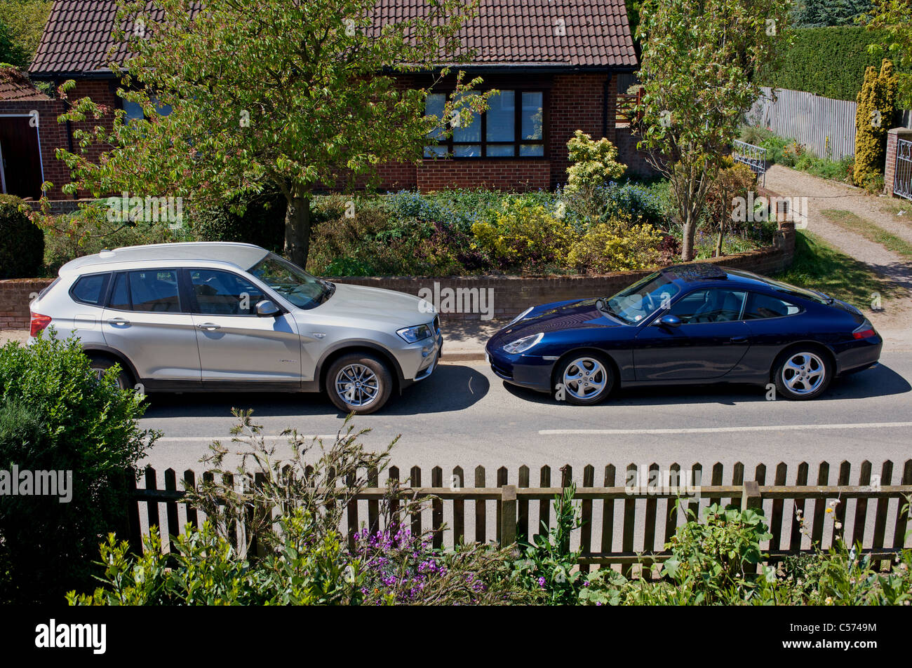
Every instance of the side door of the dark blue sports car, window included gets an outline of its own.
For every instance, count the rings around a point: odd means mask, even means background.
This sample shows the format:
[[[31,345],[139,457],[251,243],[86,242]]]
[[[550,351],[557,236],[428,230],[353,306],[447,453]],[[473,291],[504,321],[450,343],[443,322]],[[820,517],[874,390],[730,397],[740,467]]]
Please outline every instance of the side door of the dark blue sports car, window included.
[[[750,347],[744,299],[742,290],[721,288],[679,297],[668,311],[679,317],[678,327],[660,325],[657,317],[637,334],[637,381],[701,380],[731,371]]]

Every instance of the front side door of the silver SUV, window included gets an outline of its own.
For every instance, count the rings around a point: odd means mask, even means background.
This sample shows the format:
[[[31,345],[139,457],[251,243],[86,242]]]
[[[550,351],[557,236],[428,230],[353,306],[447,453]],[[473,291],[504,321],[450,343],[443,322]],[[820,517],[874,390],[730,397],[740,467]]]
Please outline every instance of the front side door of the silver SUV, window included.
[[[291,313],[259,317],[256,304],[268,297],[234,272],[192,268],[187,281],[203,385],[300,385],[301,338]]]

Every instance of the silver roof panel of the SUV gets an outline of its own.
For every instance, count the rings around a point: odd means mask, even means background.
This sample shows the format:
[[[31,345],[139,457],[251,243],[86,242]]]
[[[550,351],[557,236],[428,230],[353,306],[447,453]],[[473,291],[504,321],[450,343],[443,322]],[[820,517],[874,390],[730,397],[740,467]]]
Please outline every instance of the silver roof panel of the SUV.
[[[60,275],[104,271],[117,264],[149,262],[220,262],[247,270],[260,262],[269,252],[253,243],[184,242],[150,243],[145,246],[123,246],[67,262]]]

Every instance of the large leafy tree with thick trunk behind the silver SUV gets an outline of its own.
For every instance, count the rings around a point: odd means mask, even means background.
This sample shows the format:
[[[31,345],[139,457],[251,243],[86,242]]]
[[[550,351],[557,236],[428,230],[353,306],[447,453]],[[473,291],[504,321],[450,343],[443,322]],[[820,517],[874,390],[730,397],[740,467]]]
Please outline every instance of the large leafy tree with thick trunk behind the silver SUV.
[[[156,5],[150,14],[146,0],[124,2],[114,35],[134,54],[117,68],[119,96],[147,119],[118,111],[113,128],[77,133],[79,152],[58,149],[73,170],[67,192],[167,193],[202,209],[279,190],[285,255],[305,265],[314,189],[375,182],[379,164],[420,159],[435,128],[446,137],[454,123],[441,128],[441,118],[466,121],[485,105],[469,92],[478,79],[457,75],[440,117],[425,116],[449,70],[424,87],[393,77],[469,56],[458,32],[474,5],[460,0],[430,0],[422,17],[386,26],[374,0],[207,0],[198,14],[189,0]],[[64,118],[105,111],[81,99]],[[87,149],[98,144],[113,149],[96,161]]]

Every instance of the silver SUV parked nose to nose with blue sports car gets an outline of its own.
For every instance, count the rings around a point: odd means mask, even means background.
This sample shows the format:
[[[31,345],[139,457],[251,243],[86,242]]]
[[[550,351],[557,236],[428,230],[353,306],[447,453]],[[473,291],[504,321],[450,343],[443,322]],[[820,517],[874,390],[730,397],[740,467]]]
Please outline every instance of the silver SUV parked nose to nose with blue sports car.
[[[325,391],[372,413],[433,373],[443,337],[410,294],[329,283],[247,243],[162,243],[61,267],[32,336],[76,335],[98,375],[146,391]]]

